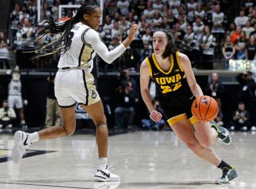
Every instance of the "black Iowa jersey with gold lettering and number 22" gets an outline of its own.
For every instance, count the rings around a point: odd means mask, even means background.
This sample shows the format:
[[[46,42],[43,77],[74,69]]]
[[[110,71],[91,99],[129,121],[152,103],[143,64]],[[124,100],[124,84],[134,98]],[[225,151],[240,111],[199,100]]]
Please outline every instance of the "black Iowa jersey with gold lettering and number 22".
[[[192,117],[191,104],[195,98],[179,62],[178,51],[170,54],[169,59],[170,70],[164,72],[157,63],[154,53],[146,58],[151,79],[156,83],[161,109],[167,120],[181,114],[187,114],[190,118]]]

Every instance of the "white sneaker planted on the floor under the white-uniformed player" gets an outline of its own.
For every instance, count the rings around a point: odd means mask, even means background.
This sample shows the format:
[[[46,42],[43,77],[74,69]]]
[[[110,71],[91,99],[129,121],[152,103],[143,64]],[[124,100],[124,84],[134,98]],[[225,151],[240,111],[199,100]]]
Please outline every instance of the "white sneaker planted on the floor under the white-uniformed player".
[[[114,173],[111,173],[108,170],[108,166],[106,166],[106,169],[97,169],[97,172],[95,173],[95,181],[100,182],[107,182],[107,181],[120,181],[120,176],[115,175]]]

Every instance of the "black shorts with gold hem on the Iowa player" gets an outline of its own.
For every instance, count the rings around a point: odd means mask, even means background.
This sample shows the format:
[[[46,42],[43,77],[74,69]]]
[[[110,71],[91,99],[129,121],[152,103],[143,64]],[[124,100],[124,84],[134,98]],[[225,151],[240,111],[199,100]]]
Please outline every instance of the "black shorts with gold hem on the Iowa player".
[[[163,114],[170,126],[184,119],[189,119],[192,124],[197,122],[191,113],[191,106],[195,99],[196,97],[192,92],[188,95],[159,97],[160,107],[163,109]]]

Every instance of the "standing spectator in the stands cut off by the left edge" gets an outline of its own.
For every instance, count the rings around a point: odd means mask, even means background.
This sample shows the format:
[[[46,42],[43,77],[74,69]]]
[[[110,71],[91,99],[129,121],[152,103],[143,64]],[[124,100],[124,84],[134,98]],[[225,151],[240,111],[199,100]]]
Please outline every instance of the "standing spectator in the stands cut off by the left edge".
[[[9,45],[9,40],[5,37],[4,32],[0,32],[0,69],[4,68],[4,64],[6,69],[10,69]]]

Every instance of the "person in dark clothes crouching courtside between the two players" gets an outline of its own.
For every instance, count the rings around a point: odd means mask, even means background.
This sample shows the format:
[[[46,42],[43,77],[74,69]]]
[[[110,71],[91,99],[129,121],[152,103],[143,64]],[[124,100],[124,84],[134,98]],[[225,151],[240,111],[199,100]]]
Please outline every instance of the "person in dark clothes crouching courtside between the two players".
[[[121,85],[117,94],[117,107],[115,108],[115,124],[118,128],[132,128],[135,97],[131,94],[132,82]]]

